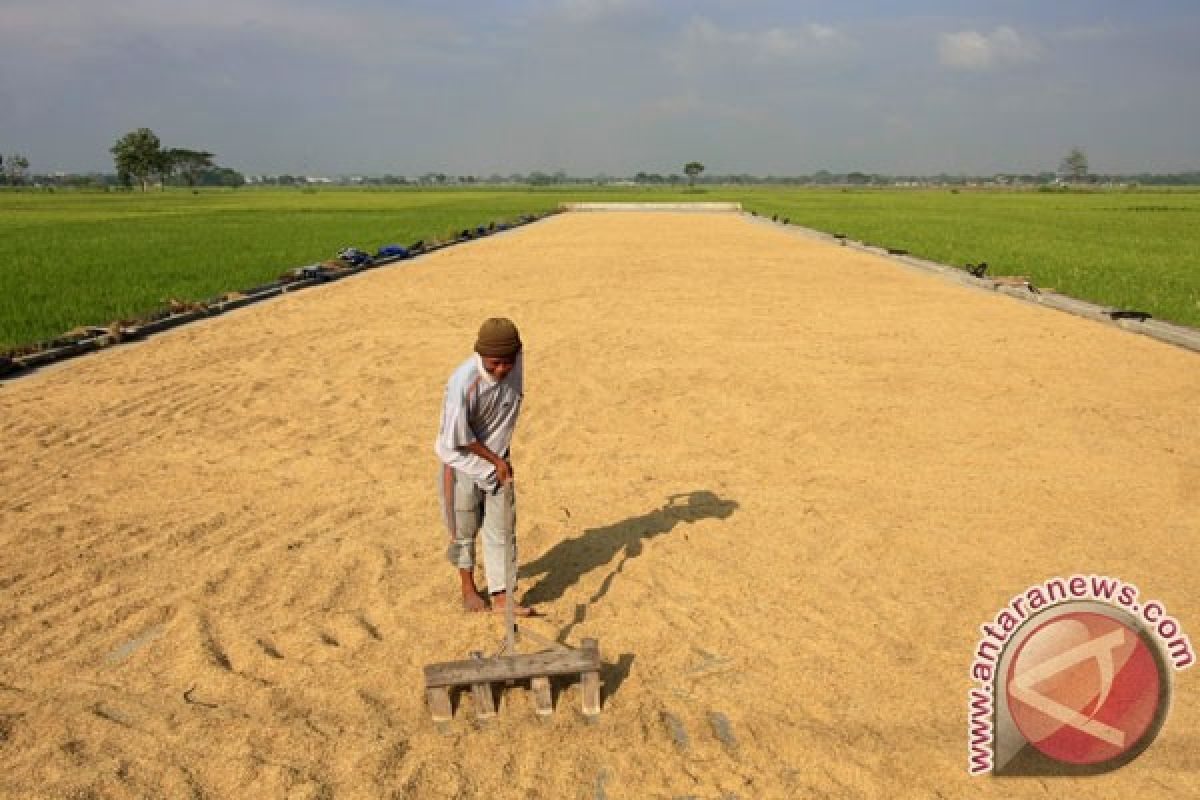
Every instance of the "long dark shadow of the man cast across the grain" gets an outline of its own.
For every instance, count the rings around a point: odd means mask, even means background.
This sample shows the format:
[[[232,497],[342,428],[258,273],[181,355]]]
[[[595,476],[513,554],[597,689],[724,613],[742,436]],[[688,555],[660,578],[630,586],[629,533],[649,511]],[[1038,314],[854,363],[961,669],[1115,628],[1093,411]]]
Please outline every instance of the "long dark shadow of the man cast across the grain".
[[[691,524],[698,519],[727,519],[737,510],[733,500],[719,498],[713,492],[701,489],[684,494],[672,494],[659,509],[637,517],[622,519],[604,528],[588,528],[574,539],[565,539],[520,570],[520,577],[540,576],[538,583],[521,599],[522,603],[546,603],[558,600],[580,579],[622,554],[616,569],[605,577],[588,603],[594,603],[607,594],[613,578],[620,573],[629,559],[642,554],[642,541],[670,533],[680,522]]]

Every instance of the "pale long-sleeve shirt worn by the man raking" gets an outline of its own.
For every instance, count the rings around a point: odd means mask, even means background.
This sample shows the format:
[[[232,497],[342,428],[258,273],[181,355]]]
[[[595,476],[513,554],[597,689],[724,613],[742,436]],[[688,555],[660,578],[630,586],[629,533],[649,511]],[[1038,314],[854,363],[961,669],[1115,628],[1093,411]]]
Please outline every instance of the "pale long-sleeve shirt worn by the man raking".
[[[523,353],[517,353],[512,371],[504,380],[487,374],[479,354],[463,361],[450,375],[442,401],[442,428],[433,447],[442,463],[470,475],[480,488],[494,491],[496,468],[462,447],[479,441],[504,458],[512,443],[523,397]]]

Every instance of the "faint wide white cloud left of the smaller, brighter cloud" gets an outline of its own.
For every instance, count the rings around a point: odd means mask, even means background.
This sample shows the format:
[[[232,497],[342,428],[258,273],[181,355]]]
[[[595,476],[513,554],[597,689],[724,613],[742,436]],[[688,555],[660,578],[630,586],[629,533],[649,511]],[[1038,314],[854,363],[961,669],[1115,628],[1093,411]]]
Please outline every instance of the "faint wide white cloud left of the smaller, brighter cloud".
[[[768,65],[823,59],[853,47],[852,40],[829,25],[728,30],[698,17],[686,24],[679,41],[668,49],[667,60],[690,72],[728,61]]]

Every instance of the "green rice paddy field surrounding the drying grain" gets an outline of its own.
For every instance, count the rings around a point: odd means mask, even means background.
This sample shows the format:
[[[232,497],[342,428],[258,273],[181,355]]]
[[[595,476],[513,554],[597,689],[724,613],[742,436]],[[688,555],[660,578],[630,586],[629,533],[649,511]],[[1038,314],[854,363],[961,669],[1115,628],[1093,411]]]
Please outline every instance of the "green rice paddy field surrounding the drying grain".
[[[761,216],[947,264],[985,260],[991,275],[1200,326],[1200,191],[0,192],[0,353],[271,281],[341,247],[446,239],[572,199],[738,200]]]

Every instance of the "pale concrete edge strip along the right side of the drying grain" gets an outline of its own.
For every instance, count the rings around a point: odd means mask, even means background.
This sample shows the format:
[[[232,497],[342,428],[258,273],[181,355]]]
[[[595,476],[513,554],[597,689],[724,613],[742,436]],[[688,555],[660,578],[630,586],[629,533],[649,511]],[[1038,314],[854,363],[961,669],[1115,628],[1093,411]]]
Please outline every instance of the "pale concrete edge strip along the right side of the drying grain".
[[[1162,319],[1153,319],[1151,317],[1140,319],[1140,314],[1126,318],[1122,314],[1127,314],[1129,312],[1123,312],[1122,309],[1114,308],[1111,306],[1099,306],[1086,300],[1079,300],[1078,297],[1058,294],[1057,291],[1031,290],[1006,283],[998,283],[990,278],[977,278],[970,272],[966,272],[956,266],[930,261],[928,259],[910,255],[899,251],[890,251],[887,247],[868,245],[845,236],[834,236],[833,234],[827,234],[822,230],[805,228],[804,225],[798,225],[796,223],[782,223],[754,213],[743,213],[743,216],[752,222],[770,225],[772,228],[779,228],[788,233],[794,233],[806,239],[815,239],[828,245],[840,245],[863,253],[870,253],[871,255],[878,255],[880,258],[884,258],[896,264],[902,264],[904,266],[919,270],[922,272],[937,275],[938,277],[952,283],[1008,295],[1009,297],[1014,297],[1022,302],[1030,302],[1046,308],[1052,308],[1055,311],[1062,311],[1068,314],[1074,314],[1075,317],[1082,317],[1097,323],[1104,323],[1105,325],[1120,327],[1133,333],[1141,333],[1142,336],[1148,336],[1153,339],[1158,339],[1159,342],[1174,344],[1175,347],[1180,347],[1186,350],[1192,350],[1193,353],[1200,353],[1200,330],[1194,327],[1169,323]]]

